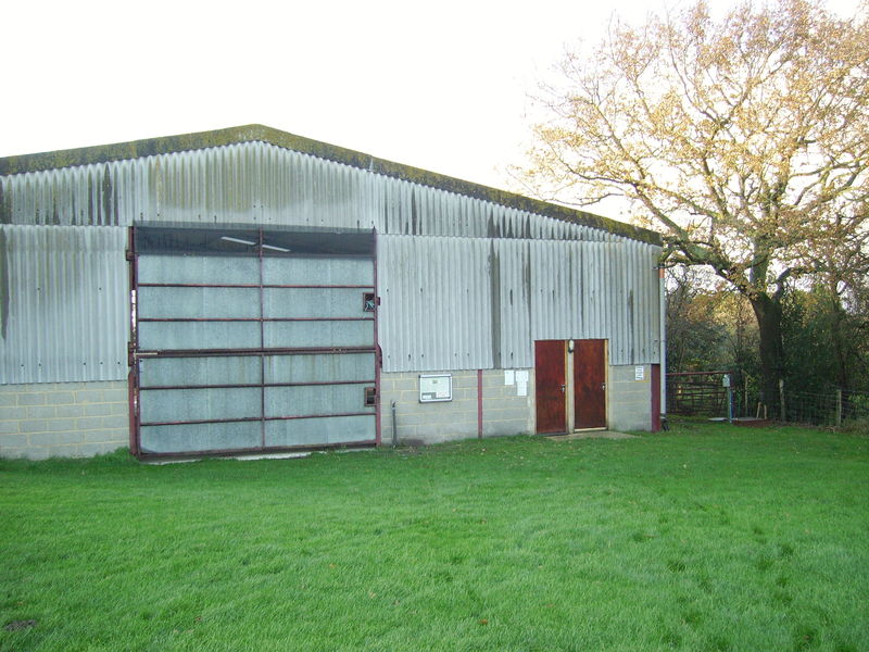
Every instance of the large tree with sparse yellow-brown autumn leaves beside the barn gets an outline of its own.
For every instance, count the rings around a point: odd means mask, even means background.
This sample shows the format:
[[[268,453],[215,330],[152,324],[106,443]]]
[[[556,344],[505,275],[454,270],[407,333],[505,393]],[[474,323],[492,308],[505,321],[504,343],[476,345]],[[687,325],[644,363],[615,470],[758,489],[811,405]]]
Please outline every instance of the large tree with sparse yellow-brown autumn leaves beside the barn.
[[[701,0],[639,28],[616,21],[541,98],[532,190],[581,205],[627,198],[664,231],[666,263],[732,284],[758,323],[767,392],[782,373],[789,279],[866,261],[868,10],[840,20],[777,0],[716,20]]]

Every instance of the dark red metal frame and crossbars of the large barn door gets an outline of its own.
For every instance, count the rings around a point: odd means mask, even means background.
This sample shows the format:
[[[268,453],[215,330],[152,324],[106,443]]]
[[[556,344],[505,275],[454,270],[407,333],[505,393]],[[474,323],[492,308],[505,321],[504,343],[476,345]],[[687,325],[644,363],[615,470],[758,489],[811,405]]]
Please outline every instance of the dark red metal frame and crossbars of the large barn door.
[[[154,225],[154,224],[147,224],[147,225],[134,225],[129,227],[129,247],[126,252],[126,259],[129,263],[129,277],[130,277],[130,340],[127,346],[127,364],[130,367],[130,372],[128,375],[128,388],[129,388],[129,410],[130,410],[130,452],[136,455],[138,459],[151,459],[151,457],[190,457],[190,456],[201,456],[201,455],[235,455],[235,454],[243,454],[243,453],[251,453],[251,452],[282,452],[282,451],[305,451],[305,450],[324,450],[324,449],[333,449],[333,448],[363,448],[363,447],[371,447],[378,446],[380,443],[380,367],[382,365],[382,354],[380,351],[380,347],[378,344],[378,330],[377,330],[377,322],[378,322],[378,312],[379,312],[379,304],[380,298],[377,293],[377,233],[376,231],[367,231],[370,233],[373,238],[371,244],[371,253],[370,253],[370,261],[373,265],[373,285],[298,285],[298,284],[264,284],[263,283],[263,242],[264,242],[264,235],[267,231],[276,231],[278,229],[264,229],[262,226],[253,226],[253,225],[219,225],[219,224],[209,224],[209,225],[189,225],[188,228],[190,229],[203,229],[203,230],[213,230],[215,228],[231,228],[232,230],[244,230],[250,234],[256,233],[256,244],[257,244],[257,260],[259,260],[259,271],[260,271],[260,283],[259,285],[253,284],[140,284],[139,283],[139,273],[138,273],[138,263],[139,263],[139,255],[140,252],[137,249],[137,231],[140,228],[146,229],[155,229],[155,228],[177,228],[179,225],[167,225],[163,227],[162,225]],[[308,234],[311,231],[299,231],[298,229],[292,229],[297,233],[305,233]],[[330,234],[336,233],[337,229],[330,229]],[[358,231],[354,231],[358,233]],[[342,255],[340,253],[333,255],[317,255],[317,256],[308,256],[308,258],[349,258],[348,255]],[[365,256],[368,258],[368,256]],[[227,318],[140,318],[139,317],[139,310],[138,310],[138,293],[140,287],[202,287],[202,288],[238,288],[238,287],[247,287],[247,288],[259,288],[260,290],[260,316],[257,317],[227,317]],[[311,289],[358,289],[361,291],[368,290],[374,293],[375,297],[375,305],[374,311],[371,312],[370,317],[265,317],[263,315],[264,311],[264,290],[266,288],[311,288]],[[263,331],[264,325],[266,322],[304,322],[304,321],[317,321],[317,322],[339,322],[339,321],[370,321],[373,322],[373,339],[370,347],[306,347],[306,348],[293,348],[293,347],[284,347],[284,348],[266,348],[265,340],[263,339]],[[193,349],[193,350],[148,350],[143,351],[139,347],[139,329],[138,324],[140,322],[259,322],[260,324],[260,334],[261,334],[261,347],[256,349]],[[328,354],[328,355],[341,355],[341,354],[355,354],[355,353],[371,353],[374,354],[374,378],[368,380],[352,380],[352,381],[341,381],[341,383],[266,383],[265,381],[265,374],[264,374],[264,366],[265,366],[265,358],[267,355],[292,355],[292,354]],[[261,390],[261,410],[259,417],[240,417],[240,418],[225,418],[225,419],[191,419],[191,421],[180,421],[180,422],[154,422],[154,423],[144,423],[141,422],[141,413],[140,413],[140,384],[139,384],[139,360],[143,358],[214,358],[214,356],[259,356],[261,360],[261,376],[260,383],[253,385],[235,385],[235,384],[219,384],[219,385],[190,385],[190,386],[161,386],[161,387],[149,387],[146,389],[201,389],[201,388],[260,388]],[[265,413],[265,389],[267,387],[292,387],[292,386],[319,386],[319,385],[361,385],[361,386],[371,386],[374,385],[374,414],[371,412],[353,412],[353,413],[342,413],[342,414],[315,414],[315,415],[293,415],[293,416],[266,416]],[[298,418],[328,418],[328,417],[336,417],[336,416],[374,416],[375,418],[375,439],[373,440],[360,440],[360,441],[349,441],[349,442],[340,442],[340,443],[324,443],[324,444],[300,444],[300,446],[282,446],[282,447],[268,447],[265,444],[265,423],[268,421],[290,421],[290,419],[298,419]],[[251,421],[259,421],[262,424],[261,427],[261,446],[256,448],[241,448],[241,449],[211,449],[211,450],[197,450],[197,451],[185,451],[185,452],[168,452],[168,453],[158,453],[158,452],[142,452],[141,450],[141,427],[144,426],[163,426],[163,425],[184,425],[184,424],[199,424],[199,423],[242,423],[242,422],[251,422]]]

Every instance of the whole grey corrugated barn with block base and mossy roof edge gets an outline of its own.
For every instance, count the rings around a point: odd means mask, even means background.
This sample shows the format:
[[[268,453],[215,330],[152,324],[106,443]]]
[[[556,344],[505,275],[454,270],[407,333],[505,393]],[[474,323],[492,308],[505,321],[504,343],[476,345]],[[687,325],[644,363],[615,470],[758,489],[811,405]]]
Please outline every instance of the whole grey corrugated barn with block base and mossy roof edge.
[[[260,125],[0,159],[0,455],[656,429],[659,253]]]

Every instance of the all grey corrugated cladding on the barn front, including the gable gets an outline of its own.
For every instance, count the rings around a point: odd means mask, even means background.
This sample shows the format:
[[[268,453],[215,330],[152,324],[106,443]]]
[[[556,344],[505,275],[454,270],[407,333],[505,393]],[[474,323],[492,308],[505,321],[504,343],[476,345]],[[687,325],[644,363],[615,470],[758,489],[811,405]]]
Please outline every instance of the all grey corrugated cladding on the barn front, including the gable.
[[[134,221],[376,228],[389,372],[530,367],[545,338],[658,361],[657,247],[263,142],[2,177],[0,217],[0,384],[125,377]]]

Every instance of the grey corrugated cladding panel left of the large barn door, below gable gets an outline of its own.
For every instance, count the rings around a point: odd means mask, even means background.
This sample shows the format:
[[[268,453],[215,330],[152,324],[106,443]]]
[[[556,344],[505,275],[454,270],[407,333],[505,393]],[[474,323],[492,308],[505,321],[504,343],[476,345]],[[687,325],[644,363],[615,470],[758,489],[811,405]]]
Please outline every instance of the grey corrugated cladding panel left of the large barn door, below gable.
[[[122,227],[2,226],[0,384],[126,377]]]

